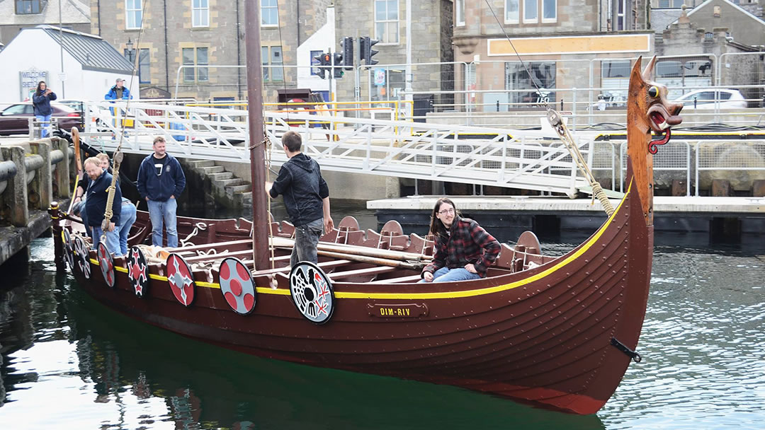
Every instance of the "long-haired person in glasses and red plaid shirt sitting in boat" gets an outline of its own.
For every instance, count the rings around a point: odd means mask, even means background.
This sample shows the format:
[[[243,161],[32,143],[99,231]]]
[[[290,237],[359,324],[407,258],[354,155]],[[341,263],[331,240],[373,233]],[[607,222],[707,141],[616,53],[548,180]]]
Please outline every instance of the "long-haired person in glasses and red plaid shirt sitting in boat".
[[[461,218],[454,202],[441,198],[431,214],[435,237],[433,261],[422,269],[420,282],[477,280],[500,254],[500,242],[476,221]]]

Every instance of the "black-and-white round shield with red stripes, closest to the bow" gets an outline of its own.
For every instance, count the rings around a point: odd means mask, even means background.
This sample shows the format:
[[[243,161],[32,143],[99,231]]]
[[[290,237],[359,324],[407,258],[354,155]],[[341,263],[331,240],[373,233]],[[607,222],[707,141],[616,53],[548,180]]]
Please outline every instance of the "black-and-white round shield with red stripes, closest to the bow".
[[[289,273],[289,291],[295,307],[316,324],[329,321],[334,312],[332,283],[316,264],[301,261]]]

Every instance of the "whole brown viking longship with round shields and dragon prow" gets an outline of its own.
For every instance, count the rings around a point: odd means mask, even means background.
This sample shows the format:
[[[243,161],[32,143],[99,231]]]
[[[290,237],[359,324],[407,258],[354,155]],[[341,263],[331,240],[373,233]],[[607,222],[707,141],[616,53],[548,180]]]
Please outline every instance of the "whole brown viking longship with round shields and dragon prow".
[[[179,217],[182,247],[146,246],[151,223],[139,212],[129,255],[118,258],[103,243],[91,250],[80,219],[54,206],[56,246],[99,302],[190,338],[591,414],[640,360],[653,259],[652,154],[682,108],[649,80],[654,61],[641,73],[637,60],[630,76],[627,191],[590,238],[558,257],[542,254],[526,232],[502,245],[485,278],[416,283],[432,241],[403,234],[396,222],[378,233],[345,218],[321,238],[317,264],[289,267],[294,228],[269,221],[262,186],[253,186],[253,222]],[[549,118],[568,133],[557,113]],[[250,129],[252,141],[262,136],[257,118]],[[652,131],[663,137],[652,141]],[[252,150],[253,183],[262,184],[262,145]]]

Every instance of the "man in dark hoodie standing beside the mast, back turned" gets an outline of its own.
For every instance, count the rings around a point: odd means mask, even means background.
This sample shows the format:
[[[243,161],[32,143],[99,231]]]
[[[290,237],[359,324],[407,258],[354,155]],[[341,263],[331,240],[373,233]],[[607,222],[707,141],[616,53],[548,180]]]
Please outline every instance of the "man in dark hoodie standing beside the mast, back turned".
[[[322,231],[334,228],[330,216],[330,191],[321,177],[319,164],[301,152],[300,134],[288,131],[282,136],[287,163],[282,165],[273,183],[265,183],[265,191],[273,199],[284,196],[287,215],[295,225],[295,247],[290,266],[299,261],[317,263],[316,245]]]

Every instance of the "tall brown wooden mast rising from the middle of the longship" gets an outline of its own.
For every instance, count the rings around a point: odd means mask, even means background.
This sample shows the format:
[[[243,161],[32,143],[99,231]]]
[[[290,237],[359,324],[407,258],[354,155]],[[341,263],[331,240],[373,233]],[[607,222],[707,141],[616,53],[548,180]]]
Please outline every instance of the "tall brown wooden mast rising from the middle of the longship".
[[[245,55],[247,66],[247,123],[249,163],[252,177],[252,260],[256,270],[269,268],[269,216],[265,207],[265,141],[263,135],[263,86],[260,53],[260,2],[246,0],[244,6]]]

